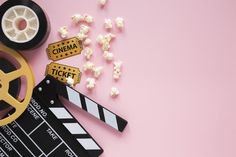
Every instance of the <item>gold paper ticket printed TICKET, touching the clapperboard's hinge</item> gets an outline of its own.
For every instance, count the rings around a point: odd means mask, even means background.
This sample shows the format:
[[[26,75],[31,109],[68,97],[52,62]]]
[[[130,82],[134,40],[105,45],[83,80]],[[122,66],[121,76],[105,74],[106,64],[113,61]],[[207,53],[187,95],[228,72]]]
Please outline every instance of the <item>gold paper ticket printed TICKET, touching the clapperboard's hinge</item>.
[[[79,68],[54,62],[47,65],[46,75],[51,75],[64,83],[67,83],[66,78],[71,77],[74,80],[74,85],[80,83],[81,79],[81,72]]]

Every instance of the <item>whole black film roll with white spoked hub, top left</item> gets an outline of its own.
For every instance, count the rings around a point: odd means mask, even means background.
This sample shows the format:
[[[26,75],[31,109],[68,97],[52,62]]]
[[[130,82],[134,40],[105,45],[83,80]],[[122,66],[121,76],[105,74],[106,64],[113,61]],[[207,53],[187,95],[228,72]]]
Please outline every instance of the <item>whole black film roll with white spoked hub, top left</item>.
[[[0,6],[0,40],[17,50],[40,46],[48,37],[49,21],[31,0],[8,0]]]

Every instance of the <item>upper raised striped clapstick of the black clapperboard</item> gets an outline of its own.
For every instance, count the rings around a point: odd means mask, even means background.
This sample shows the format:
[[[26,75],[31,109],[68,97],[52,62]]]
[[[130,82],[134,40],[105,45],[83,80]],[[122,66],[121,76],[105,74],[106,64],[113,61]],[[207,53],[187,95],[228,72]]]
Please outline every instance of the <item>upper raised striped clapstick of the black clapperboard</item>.
[[[58,96],[60,95],[120,132],[122,132],[128,124],[128,122],[120,116],[51,76],[47,76],[35,89],[39,96],[45,101],[48,101],[48,103],[59,101]],[[38,89],[42,89],[42,91],[40,92]],[[37,92],[35,91],[35,93]]]

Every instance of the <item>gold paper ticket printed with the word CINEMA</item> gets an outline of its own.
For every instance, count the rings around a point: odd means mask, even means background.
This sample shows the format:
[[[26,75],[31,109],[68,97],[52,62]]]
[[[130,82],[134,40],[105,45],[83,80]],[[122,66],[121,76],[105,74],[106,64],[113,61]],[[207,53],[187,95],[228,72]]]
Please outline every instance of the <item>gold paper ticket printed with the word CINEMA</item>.
[[[48,58],[57,61],[74,55],[81,54],[82,42],[76,37],[55,42],[48,45]]]

